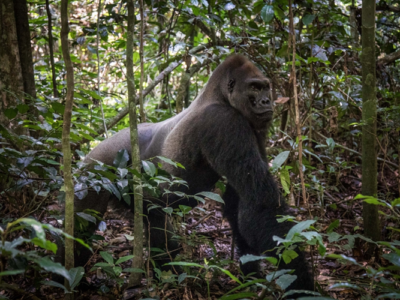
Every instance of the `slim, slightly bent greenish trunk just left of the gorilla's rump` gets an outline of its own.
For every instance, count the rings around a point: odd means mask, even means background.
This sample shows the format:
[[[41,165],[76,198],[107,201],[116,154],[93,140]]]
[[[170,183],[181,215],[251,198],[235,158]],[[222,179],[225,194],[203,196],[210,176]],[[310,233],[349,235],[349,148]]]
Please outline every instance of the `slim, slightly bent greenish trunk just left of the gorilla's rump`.
[[[62,152],[64,161],[64,186],[65,186],[65,232],[74,235],[74,185],[72,181],[70,131],[72,118],[72,105],[74,101],[74,70],[68,45],[68,0],[61,1],[61,47],[67,70],[67,96],[65,99],[65,111],[62,130]],[[65,240],[65,268],[74,267],[74,240]],[[65,280],[69,288],[69,282]],[[65,294],[65,299],[73,299],[73,293]]]

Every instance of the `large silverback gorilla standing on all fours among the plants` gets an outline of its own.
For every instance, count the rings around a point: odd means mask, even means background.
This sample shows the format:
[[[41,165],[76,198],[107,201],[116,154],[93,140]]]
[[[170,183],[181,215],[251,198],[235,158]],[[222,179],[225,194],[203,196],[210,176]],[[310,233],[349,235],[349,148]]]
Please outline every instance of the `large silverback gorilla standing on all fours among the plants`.
[[[167,171],[187,181],[189,188],[177,187],[188,195],[211,190],[221,176],[228,185],[223,196],[224,214],[229,220],[240,255],[259,255],[273,249],[273,235],[283,237],[292,225],[278,223],[277,215],[287,214],[288,207],[268,170],[265,138],[273,116],[269,81],[248,59],[233,55],[212,74],[201,95],[175,117],[155,124],[139,124],[141,159],[165,156],[180,162],[185,169],[167,166]],[[101,142],[85,158],[112,165],[117,152],[131,152],[129,128]],[[92,208],[104,213],[108,193],[91,191],[84,200],[76,200],[76,211]],[[166,199],[161,199],[166,201]],[[192,198],[171,199],[194,207]],[[164,215],[148,212],[151,245],[165,245]],[[147,226],[145,226],[147,227]],[[168,249],[177,248],[168,236]],[[297,280],[290,289],[313,290],[304,254],[280,268],[294,269]],[[268,252],[267,255],[270,252]],[[276,255],[276,254],[274,254]],[[258,264],[241,266],[245,274],[258,271]]]

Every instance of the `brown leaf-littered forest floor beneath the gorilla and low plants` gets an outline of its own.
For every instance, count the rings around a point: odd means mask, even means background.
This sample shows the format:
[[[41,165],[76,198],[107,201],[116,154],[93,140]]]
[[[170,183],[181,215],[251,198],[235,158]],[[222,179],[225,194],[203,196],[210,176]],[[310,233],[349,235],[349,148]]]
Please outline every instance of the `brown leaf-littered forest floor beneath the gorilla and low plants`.
[[[354,173],[355,170],[353,170]],[[354,196],[360,193],[361,180],[353,175],[342,176],[338,181],[338,188],[331,191],[325,190],[323,197],[323,206],[317,203],[317,199],[310,200],[310,209],[294,209],[293,215],[297,221],[317,218],[316,228],[320,233],[324,233],[328,226],[334,220],[340,220],[340,225],[336,229],[339,234],[354,235],[362,233],[362,202],[353,200]],[[393,183],[394,184],[394,183]],[[390,188],[389,181],[385,186]],[[335,191],[336,190],[336,191]],[[342,191],[342,192],[341,192]],[[343,192],[346,191],[346,192]],[[324,207],[323,209],[321,207]],[[56,203],[51,204],[46,208],[47,211],[59,209]],[[310,213],[311,216],[310,217]],[[41,222],[50,223],[57,226],[57,221],[47,213],[38,216]],[[100,256],[101,251],[108,251],[113,254],[114,258],[124,257],[131,253],[131,245],[126,238],[126,235],[133,234],[133,222],[131,222],[131,213],[126,210],[109,209],[104,217],[107,224],[106,230],[98,231],[98,235],[104,237],[103,241],[99,241],[97,246],[93,247],[94,254],[85,266],[86,274],[84,275],[80,286],[79,293],[76,299],[128,299],[135,294],[140,294],[146,289],[146,279],[143,279],[143,287],[129,290],[128,293],[123,292],[123,288],[117,284],[116,278],[107,275],[101,268],[93,268],[95,263],[104,262]],[[232,251],[232,236],[229,228],[229,223],[222,216],[222,206],[220,203],[207,200],[205,204],[193,209],[185,216],[185,219],[176,220],[178,231],[183,234],[186,239],[181,250],[180,260],[185,262],[195,262],[208,265],[218,265],[226,270],[229,270],[234,276],[239,276],[239,257],[236,251]],[[182,222],[183,221],[183,222]],[[394,224],[387,223],[385,226],[393,226]],[[185,224],[184,226],[182,225]],[[273,230],[273,229],[272,229]],[[384,233],[384,232],[383,232]],[[376,262],[374,258],[365,260],[363,258],[365,244],[360,239],[355,239],[355,244],[352,249],[341,247],[338,243],[336,246],[326,241],[327,254],[343,254],[354,258],[360,265],[369,265],[377,269],[378,265],[384,265],[385,261]],[[325,242],[325,240],[324,240]],[[343,242],[343,246],[347,244]],[[362,268],[354,264],[340,264],[335,260],[325,259],[318,255],[315,248],[308,247],[308,255],[310,265],[314,266],[314,278],[318,291],[325,296],[330,296],[334,299],[360,299],[361,294],[354,289],[328,289],[337,282],[355,282],[362,281]],[[312,256],[312,258],[310,258]],[[129,267],[129,262],[122,264],[122,267]],[[151,264],[150,264],[151,265]],[[93,268],[93,269],[92,269]],[[154,273],[150,268],[150,273]],[[274,270],[272,265],[262,264],[262,270],[265,273]],[[193,271],[192,271],[193,272]],[[182,273],[180,270],[178,273]],[[127,274],[127,273],[125,273]],[[33,274],[26,274],[27,277],[16,276],[13,283],[18,284],[21,288],[29,290],[30,293],[40,293],[40,299],[61,299],[63,293],[60,289],[45,285],[39,289],[33,287]],[[208,299],[208,290],[206,281],[209,281],[209,291],[211,299],[219,299],[221,296],[238,286],[229,276],[222,272],[208,272],[205,269],[196,269],[195,273],[187,277],[186,280],[178,283],[178,276],[173,273],[162,274],[162,283],[153,280],[154,283],[152,292],[147,297],[156,297],[158,299]],[[121,277],[122,276],[122,277]],[[123,278],[121,275],[119,278]],[[128,275],[125,275],[127,277]],[[255,288],[253,292],[261,292],[261,288]],[[364,292],[363,292],[364,293]],[[370,291],[373,294],[373,291]],[[146,297],[144,297],[146,298]],[[19,299],[19,298],[12,298]],[[133,298],[132,298],[133,299]],[[139,298],[137,298],[139,299]],[[274,299],[271,295],[270,299]]]

